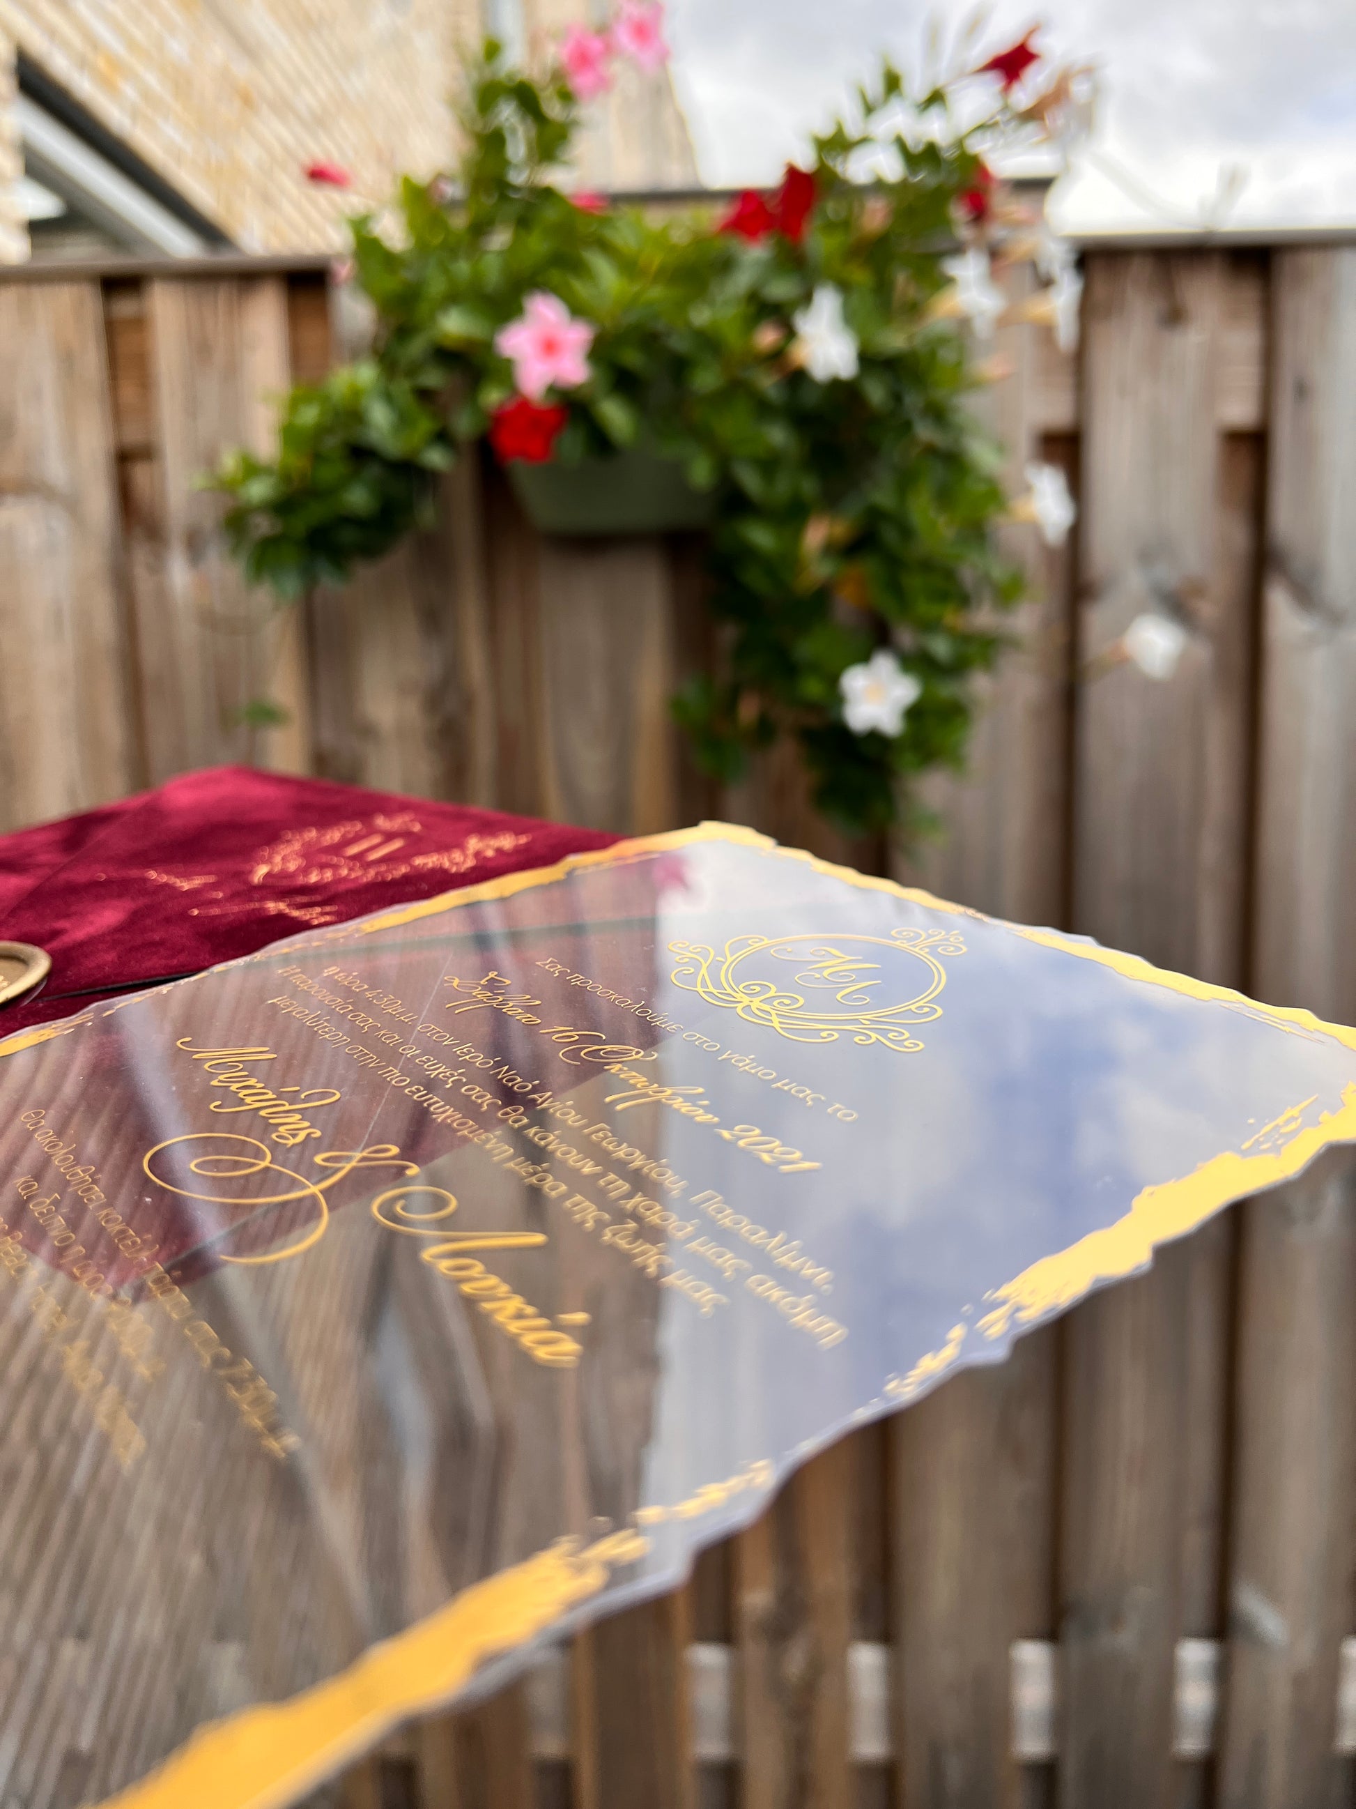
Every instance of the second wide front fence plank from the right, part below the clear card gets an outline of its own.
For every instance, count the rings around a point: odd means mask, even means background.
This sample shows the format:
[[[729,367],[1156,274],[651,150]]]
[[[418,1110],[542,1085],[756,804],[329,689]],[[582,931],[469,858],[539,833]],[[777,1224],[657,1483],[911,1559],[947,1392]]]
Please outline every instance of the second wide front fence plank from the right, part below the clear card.
[[[1219,1634],[1228,1221],[1063,1322],[1061,1802],[1172,1805],[1173,1653]],[[1190,1800],[1190,1798],[1188,1798]]]

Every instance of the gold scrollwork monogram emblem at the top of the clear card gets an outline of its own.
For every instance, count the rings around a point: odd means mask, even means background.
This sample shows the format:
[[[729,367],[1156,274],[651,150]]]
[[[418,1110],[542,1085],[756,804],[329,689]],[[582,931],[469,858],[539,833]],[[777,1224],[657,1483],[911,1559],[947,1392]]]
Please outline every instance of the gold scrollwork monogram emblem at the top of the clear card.
[[[917,1024],[942,1015],[942,961],[964,955],[958,930],[900,928],[884,935],[736,935],[720,955],[702,942],[669,942],[673,984],[738,1011],[790,1042],[884,1044],[922,1049]],[[786,971],[790,970],[790,971]],[[922,970],[922,971],[920,971]]]

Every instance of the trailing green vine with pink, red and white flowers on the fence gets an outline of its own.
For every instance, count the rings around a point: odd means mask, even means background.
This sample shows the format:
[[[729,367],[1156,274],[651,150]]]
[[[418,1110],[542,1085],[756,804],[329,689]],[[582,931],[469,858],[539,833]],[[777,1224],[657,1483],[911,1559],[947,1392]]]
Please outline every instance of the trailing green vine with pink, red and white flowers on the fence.
[[[973,346],[1005,308],[1003,259],[1045,262],[1027,311],[1065,329],[1078,277],[985,159],[1059,130],[1076,83],[1032,74],[1027,40],[917,96],[886,63],[776,194],[647,219],[557,186],[611,49],[575,29],[533,76],[486,43],[456,174],[405,179],[396,232],[353,221],[371,355],[291,393],[273,458],[222,467],[228,534],[295,599],[427,521],[483,438],[506,461],[671,456],[714,492],[727,624],[720,671],[674,698],[698,762],[732,780],[794,736],[828,818],[888,827],[911,776],[960,762],[993,606],[1020,590]],[[1036,476],[1056,537],[1067,492]]]

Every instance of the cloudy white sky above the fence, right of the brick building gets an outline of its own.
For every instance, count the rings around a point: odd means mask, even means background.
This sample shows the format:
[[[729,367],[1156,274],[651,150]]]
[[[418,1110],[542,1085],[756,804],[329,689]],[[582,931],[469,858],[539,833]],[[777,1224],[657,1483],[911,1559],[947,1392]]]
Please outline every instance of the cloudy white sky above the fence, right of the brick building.
[[[768,181],[882,49],[918,62],[947,0],[669,0],[674,80],[702,174]],[[1090,152],[1058,188],[1065,230],[1356,224],[1356,0],[994,0],[985,54],[1027,25],[1099,71]],[[1237,175],[1229,175],[1237,172]],[[1246,179],[1242,179],[1246,177]]]

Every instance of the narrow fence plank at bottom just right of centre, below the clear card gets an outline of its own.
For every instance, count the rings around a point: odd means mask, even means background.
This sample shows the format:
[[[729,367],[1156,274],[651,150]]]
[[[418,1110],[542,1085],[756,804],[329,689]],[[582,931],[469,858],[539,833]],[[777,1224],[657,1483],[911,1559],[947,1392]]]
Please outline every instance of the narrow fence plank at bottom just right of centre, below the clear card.
[[[736,1539],[741,1809],[848,1802],[855,1456],[812,1458]]]

